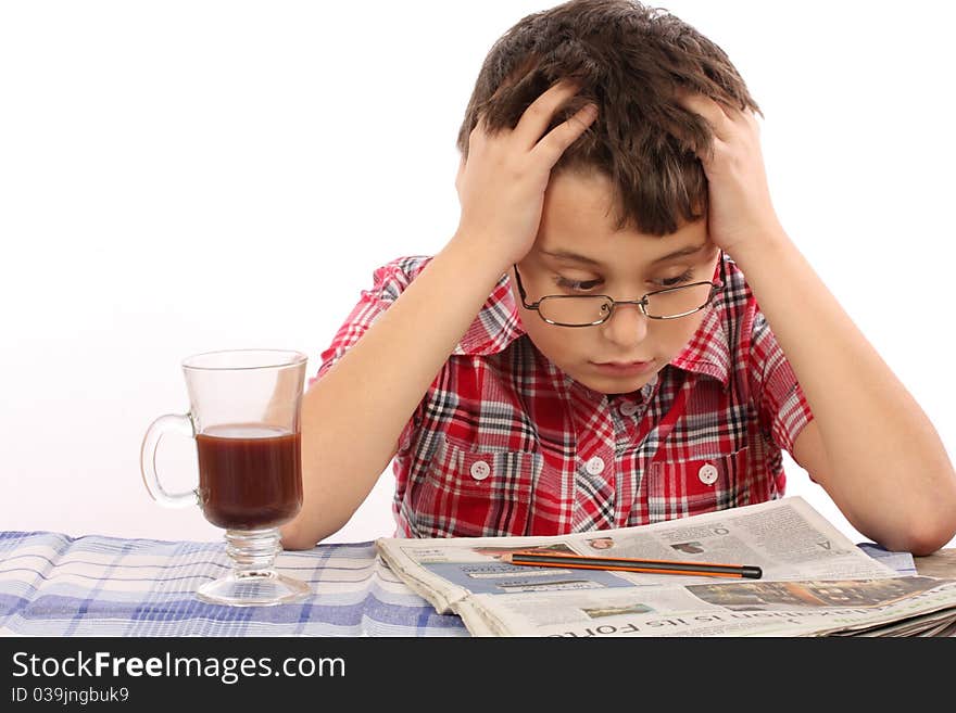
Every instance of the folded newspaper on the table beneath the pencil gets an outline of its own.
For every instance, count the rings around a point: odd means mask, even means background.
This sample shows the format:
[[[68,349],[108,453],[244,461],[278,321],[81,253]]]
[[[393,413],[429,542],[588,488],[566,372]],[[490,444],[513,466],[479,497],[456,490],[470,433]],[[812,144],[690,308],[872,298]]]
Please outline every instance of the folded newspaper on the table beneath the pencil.
[[[383,537],[376,547],[475,636],[934,636],[956,627],[956,580],[870,557],[798,496],[638,527]],[[763,577],[512,564],[518,550],[750,564]]]

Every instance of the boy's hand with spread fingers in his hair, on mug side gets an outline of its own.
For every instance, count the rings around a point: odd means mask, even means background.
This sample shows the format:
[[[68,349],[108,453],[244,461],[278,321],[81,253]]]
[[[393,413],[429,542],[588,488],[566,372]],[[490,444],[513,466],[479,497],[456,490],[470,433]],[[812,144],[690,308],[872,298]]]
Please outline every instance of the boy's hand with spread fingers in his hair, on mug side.
[[[518,263],[538,235],[544,190],[564,151],[598,117],[589,104],[542,137],[554,113],[580,87],[562,80],[528,106],[514,130],[489,136],[480,117],[468,140],[455,179],[462,216],[457,235],[481,240],[507,269]]]

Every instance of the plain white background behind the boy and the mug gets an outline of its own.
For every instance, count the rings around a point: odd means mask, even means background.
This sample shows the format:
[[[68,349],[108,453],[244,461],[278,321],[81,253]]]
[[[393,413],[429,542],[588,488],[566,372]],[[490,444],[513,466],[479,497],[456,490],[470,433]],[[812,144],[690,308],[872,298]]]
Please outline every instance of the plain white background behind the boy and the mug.
[[[478,69],[551,4],[2,3],[0,530],[217,539],[139,474],[146,428],[188,408],[181,359],[295,348],[314,374],[373,269],[454,231]],[[956,11],[666,8],[746,79],[784,227],[953,454]],[[169,489],[192,448],[164,440]],[[785,464],[788,494],[863,539]],[[330,539],[391,534],[391,486]]]

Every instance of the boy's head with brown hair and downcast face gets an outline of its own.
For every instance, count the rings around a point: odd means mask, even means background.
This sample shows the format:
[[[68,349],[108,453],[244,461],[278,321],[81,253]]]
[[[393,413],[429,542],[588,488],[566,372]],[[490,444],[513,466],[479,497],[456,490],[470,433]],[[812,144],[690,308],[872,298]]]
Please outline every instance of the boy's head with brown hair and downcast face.
[[[526,302],[586,294],[631,301],[716,279],[707,180],[696,156],[709,151],[714,137],[675,94],[687,89],[759,113],[725,52],[666,11],[631,0],[571,0],[529,15],[494,43],[481,67],[458,132],[463,160],[479,117],[491,135],[514,129],[531,102],[565,77],[582,88],[548,130],[588,102],[599,114],[552,170],[537,241],[518,265]],[[685,247],[700,250],[662,259]],[[705,314],[651,320],[626,305],[602,324],[575,329],[520,309],[542,354],[606,394],[650,381],[687,346]],[[647,365],[605,366],[636,361]]]

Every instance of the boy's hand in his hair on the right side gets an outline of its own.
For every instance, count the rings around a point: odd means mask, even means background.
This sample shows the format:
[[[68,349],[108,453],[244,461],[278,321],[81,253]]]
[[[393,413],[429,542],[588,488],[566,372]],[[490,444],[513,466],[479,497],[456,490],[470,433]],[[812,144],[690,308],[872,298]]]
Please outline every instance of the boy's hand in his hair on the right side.
[[[682,91],[678,103],[700,114],[714,129],[714,151],[697,154],[709,182],[710,240],[733,256],[746,245],[780,231],[760,152],[760,127],[752,111],[725,107],[699,93]]]

